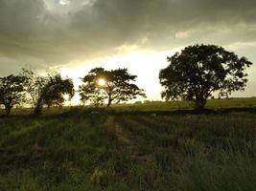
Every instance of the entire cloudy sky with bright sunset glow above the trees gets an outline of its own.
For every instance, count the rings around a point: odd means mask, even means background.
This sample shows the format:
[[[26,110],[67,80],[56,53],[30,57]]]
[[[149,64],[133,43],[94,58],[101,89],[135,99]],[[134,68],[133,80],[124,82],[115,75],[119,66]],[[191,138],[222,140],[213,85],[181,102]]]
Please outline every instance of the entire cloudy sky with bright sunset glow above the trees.
[[[128,68],[160,99],[167,56],[201,43],[255,63],[233,96],[256,96],[255,0],[0,0],[0,76],[54,68],[78,87],[95,67]]]

